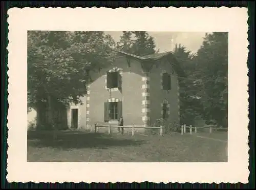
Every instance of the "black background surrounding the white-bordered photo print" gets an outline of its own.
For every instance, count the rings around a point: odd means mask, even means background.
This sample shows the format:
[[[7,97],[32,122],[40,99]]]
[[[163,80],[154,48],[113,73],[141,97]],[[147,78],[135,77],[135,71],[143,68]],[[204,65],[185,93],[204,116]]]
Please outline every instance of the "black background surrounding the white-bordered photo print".
[[[118,8],[118,7],[247,7],[248,8],[248,25],[249,25],[249,31],[248,31],[248,40],[250,45],[249,48],[249,54],[248,54],[248,76],[249,76],[249,183],[243,184],[243,183],[237,183],[237,184],[231,184],[231,183],[211,183],[211,184],[200,184],[200,183],[151,183],[151,182],[143,182],[143,183],[8,183],[6,180],[7,175],[7,111],[8,111],[8,76],[7,76],[7,70],[8,70],[8,51],[6,49],[8,45],[8,23],[7,23],[7,11],[10,8],[18,7],[18,8],[24,8],[24,7],[109,7],[109,8]],[[255,152],[254,152],[254,92],[255,92],[255,86],[254,86],[254,28],[255,28],[255,19],[254,19],[254,1],[242,1],[242,2],[203,2],[203,1],[191,1],[191,2],[170,2],[170,1],[134,1],[134,2],[101,2],[101,1],[92,1],[92,2],[1,2],[1,113],[2,113],[2,119],[1,119],[1,137],[2,137],[2,162],[1,162],[1,188],[254,188],[255,182]],[[236,168],[234,168],[234,172],[236,171]],[[170,179],[171,181],[172,179]]]

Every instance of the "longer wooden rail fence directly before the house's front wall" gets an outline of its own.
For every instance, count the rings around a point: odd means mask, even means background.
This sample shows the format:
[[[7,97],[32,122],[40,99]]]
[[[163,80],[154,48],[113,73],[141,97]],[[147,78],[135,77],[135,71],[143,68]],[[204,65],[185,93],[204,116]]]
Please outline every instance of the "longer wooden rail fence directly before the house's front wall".
[[[100,124],[94,124],[94,133],[98,132],[98,128],[109,128],[109,135],[111,134],[111,128],[121,128],[121,133],[123,134],[124,128],[130,128],[132,129],[132,136],[134,136],[134,129],[159,129],[159,135],[163,135],[163,126],[156,127],[156,126],[118,126],[118,125],[100,125]]]

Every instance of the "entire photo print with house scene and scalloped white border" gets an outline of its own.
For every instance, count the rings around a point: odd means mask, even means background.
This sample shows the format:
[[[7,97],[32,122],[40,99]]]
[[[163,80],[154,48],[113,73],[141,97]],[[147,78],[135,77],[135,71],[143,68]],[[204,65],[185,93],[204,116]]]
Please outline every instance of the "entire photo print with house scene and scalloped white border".
[[[9,182],[248,181],[246,9],[8,15]]]

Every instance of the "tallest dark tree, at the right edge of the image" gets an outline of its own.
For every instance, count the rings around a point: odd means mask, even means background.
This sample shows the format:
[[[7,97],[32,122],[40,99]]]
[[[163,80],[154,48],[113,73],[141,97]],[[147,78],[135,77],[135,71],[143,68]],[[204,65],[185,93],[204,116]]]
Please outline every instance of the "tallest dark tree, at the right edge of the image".
[[[227,126],[228,33],[206,34],[195,58],[201,78],[198,96],[206,121]]]

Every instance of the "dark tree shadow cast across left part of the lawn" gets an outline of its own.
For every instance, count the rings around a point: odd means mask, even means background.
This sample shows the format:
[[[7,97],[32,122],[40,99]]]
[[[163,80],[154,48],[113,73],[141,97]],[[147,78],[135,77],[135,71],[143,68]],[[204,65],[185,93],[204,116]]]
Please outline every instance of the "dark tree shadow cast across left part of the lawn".
[[[57,149],[83,149],[100,148],[108,149],[110,146],[138,146],[142,140],[111,137],[101,133],[85,132],[57,132],[53,139],[52,132],[28,132],[28,146],[52,147]]]

